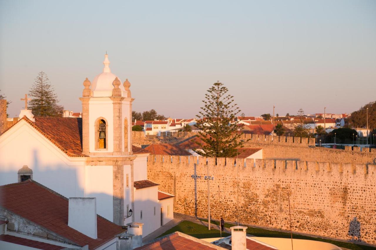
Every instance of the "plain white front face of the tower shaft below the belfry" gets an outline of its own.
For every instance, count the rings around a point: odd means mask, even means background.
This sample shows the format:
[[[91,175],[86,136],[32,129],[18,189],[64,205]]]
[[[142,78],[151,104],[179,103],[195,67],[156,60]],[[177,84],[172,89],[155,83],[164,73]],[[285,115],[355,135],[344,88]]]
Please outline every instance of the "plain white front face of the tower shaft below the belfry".
[[[97,198],[97,214],[113,221],[112,166],[85,166],[85,196]]]

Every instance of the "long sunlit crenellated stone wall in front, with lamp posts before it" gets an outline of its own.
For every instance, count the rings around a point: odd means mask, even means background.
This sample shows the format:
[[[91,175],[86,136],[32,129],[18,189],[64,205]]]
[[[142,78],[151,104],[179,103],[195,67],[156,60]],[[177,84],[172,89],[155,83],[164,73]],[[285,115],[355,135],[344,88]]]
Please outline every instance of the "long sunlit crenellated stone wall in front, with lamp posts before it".
[[[289,192],[295,232],[376,244],[376,165],[235,160],[150,155],[147,176],[175,195],[176,212],[207,217],[209,168],[213,218],[288,230]]]

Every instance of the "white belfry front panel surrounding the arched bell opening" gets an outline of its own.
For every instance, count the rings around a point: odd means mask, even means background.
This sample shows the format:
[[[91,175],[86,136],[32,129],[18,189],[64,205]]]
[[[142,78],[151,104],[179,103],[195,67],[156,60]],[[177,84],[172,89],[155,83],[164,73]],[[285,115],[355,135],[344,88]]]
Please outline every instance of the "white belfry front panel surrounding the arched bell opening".
[[[109,97],[91,98],[89,101],[89,150],[90,152],[113,152],[114,151],[114,112],[112,100]],[[99,117],[103,117],[107,122],[107,150],[95,150],[96,130],[95,122]]]

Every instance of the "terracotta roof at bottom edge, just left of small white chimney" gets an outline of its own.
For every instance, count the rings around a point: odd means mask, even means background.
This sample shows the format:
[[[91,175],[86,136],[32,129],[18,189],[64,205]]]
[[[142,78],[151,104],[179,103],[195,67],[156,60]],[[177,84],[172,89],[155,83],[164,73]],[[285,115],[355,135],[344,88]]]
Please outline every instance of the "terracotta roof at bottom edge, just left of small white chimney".
[[[135,249],[155,250],[190,250],[190,249],[218,249],[218,246],[210,247],[210,243],[193,237],[185,237],[184,233],[174,232],[166,235],[155,242],[143,245]]]

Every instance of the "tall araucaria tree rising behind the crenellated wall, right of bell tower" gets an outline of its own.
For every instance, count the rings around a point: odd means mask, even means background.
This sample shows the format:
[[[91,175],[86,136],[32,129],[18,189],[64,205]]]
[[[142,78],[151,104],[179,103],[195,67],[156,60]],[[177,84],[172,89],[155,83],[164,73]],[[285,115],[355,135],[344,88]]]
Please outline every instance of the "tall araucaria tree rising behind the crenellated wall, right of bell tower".
[[[237,104],[234,104],[233,96],[228,95],[228,89],[223,83],[214,83],[205,94],[205,104],[201,107],[199,121],[196,127],[202,140],[205,157],[234,157],[237,155],[237,148],[243,147],[244,140],[240,140],[241,134],[237,133],[237,124],[231,123],[235,116],[241,111]]]

